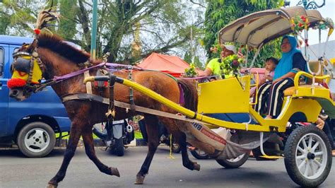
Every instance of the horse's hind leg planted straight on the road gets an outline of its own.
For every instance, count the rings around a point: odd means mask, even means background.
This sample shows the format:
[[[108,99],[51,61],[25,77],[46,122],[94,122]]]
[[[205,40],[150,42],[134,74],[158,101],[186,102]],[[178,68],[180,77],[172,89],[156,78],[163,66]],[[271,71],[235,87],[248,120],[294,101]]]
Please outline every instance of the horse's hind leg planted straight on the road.
[[[153,160],[153,155],[159,145],[158,118],[151,114],[144,115],[144,118],[146,119],[146,131],[148,134],[148,154],[146,155],[146,160],[144,160],[144,163],[141,166],[141,170],[136,175],[135,184],[143,184],[144,177],[148,174],[151,161]]]

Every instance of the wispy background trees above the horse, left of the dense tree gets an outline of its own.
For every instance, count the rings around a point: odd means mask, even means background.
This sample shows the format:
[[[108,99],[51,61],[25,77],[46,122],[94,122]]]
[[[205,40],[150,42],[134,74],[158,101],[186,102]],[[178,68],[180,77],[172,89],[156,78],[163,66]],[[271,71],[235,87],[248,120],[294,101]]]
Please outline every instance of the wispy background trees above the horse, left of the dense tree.
[[[90,52],[92,1],[54,0],[53,3],[61,17],[59,27],[52,30]],[[182,0],[99,0],[98,57],[111,52],[109,61],[132,63],[151,52],[175,52],[184,47],[190,37],[190,26],[185,16],[189,12],[189,4],[189,1]],[[0,4],[1,34],[33,36],[37,13],[44,5],[37,0],[4,0]],[[10,24],[4,22],[6,16],[11,18]],[[198,24],[197,18],[199,16],[194,17],[194,25]],[[140,27],[136,28],[139,24]],[[141,44],[141,55],[134,58],[131,56],[132,47],[134,49],[131,42],[134,41],[136,30],[141,36],[138,37],[141,41],[136,41]],[[193,35],[196,35],[196,31]]]

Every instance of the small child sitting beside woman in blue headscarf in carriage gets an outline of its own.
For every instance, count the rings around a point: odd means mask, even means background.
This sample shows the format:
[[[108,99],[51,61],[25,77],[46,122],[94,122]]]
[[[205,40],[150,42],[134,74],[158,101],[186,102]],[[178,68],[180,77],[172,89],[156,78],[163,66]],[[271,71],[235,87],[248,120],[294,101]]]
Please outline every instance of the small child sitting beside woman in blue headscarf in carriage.
[[[264,77],[259,81],[259,85],[267,82],[267,81],[273,81],[274,78],[274,69],[276,69],[276,66],[278,64],[278,59],[274,57],[269,57],[265,60],[265,74]],[[256,91],[256,87],[250,89],[250,97],[254,95]]]

